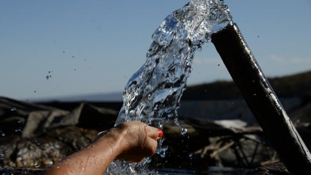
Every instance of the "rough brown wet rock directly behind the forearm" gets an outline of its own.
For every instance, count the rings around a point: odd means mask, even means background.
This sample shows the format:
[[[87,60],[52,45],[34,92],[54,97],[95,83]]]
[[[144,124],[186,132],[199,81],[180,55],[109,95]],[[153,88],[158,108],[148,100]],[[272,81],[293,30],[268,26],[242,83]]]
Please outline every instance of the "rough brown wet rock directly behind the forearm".
[[[47,130],[32,138],[2,138],[2,167],[46,168],[86,147],[98,131],[75,126]]]

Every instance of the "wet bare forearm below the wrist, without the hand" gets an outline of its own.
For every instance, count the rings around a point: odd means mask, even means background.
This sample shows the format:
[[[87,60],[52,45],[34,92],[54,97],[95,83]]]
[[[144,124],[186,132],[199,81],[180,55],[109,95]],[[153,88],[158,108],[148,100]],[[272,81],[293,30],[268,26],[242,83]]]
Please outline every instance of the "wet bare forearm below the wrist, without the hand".
[[[105,135],[54,164],[42,175],[103,175],[110,162],[122,152],[120,141],[121,137]]]

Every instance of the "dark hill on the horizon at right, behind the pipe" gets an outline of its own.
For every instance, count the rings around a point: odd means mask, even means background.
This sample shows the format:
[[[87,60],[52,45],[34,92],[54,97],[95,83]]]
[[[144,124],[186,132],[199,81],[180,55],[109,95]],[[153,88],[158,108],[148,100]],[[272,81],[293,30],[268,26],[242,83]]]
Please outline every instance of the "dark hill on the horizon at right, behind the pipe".
[[[268,78],[268,81],[279,98],[311,95],[311,71],[282,78]],[[242,98],[242,94],[233,81],[216,81],[187,87],[181,100],[235,98]]]

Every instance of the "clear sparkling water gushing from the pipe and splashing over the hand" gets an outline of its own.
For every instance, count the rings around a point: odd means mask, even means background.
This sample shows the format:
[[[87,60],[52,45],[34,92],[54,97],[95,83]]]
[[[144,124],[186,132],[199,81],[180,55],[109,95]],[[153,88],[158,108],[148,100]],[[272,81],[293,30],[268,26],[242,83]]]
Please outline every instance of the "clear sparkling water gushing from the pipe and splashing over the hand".
[[[139,120],[162,129],[162,121],[174,119],[186,81],[191,73],[194,53],[209,42],[211,34],[232,23],[222,0],[191,0],[166,17],[152,35],[146,63],[130,78],[116,125]],[[182,129],[181,134],[187,131]],[[157,154],[165,156],[162,140]],[[108,172],[118,175],[156,174],[148,170],[149,158],[141,163],[113,161]]]

